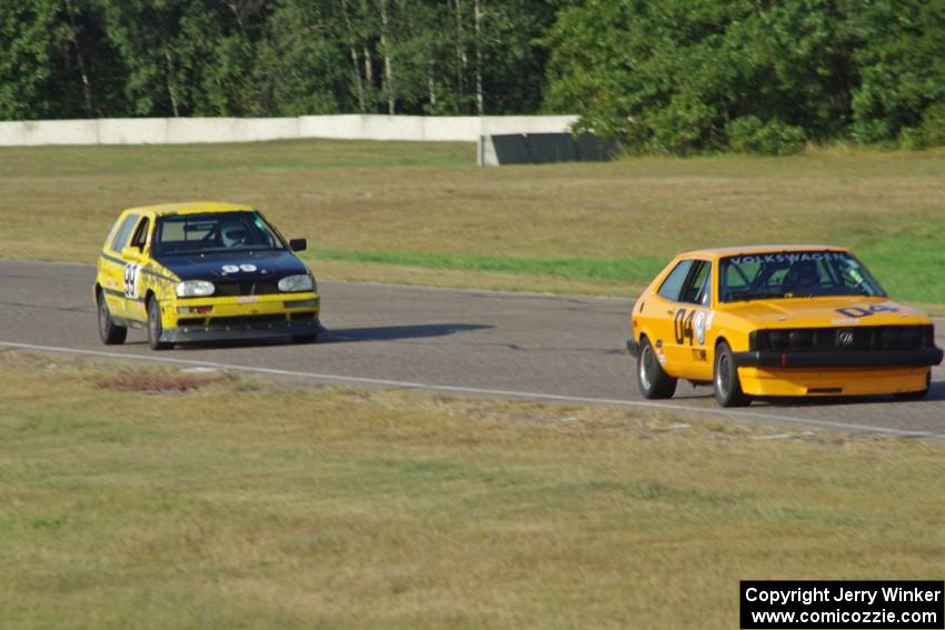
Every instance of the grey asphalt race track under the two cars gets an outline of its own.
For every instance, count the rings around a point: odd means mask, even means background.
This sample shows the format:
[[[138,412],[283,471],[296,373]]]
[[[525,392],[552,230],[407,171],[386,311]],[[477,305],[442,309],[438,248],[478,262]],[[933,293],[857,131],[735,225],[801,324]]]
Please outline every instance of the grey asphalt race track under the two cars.
[[[317,266],[316,266],[317,270]],[[94,268],[0,260],[0,349],[221,364],[318,382],[408,387],[472,396],[647,406],[733,421],[945,438],[945,369],[921,402],[892,397],[762,401],[719,409],[708,388],[682,384],[667,402],[644,401],[627,356],[630,301],[320,282],[328,331],[314,346],[183,347],[152,352],[145,332],[102,346]],[[939,347],[945,321],[936,322]]]

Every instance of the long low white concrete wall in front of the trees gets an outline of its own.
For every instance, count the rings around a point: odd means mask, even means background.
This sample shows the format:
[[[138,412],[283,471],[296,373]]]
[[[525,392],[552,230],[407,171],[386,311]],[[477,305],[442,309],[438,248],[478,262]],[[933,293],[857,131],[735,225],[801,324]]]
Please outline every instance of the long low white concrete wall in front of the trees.
[[[0,147],[190,144],[325,138],[476,142],[481,136],[561,133],[576,116],[376,116],[298,118],[116,118],[0,122]]]

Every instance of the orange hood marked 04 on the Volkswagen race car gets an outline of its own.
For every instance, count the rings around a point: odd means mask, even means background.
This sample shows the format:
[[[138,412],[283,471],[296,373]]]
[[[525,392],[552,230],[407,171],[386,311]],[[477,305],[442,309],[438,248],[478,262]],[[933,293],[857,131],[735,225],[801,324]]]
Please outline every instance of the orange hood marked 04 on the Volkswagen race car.
[[[932,323],[921,311],[886,298],[790,298],[725,304],[725,311],[765,328]]]

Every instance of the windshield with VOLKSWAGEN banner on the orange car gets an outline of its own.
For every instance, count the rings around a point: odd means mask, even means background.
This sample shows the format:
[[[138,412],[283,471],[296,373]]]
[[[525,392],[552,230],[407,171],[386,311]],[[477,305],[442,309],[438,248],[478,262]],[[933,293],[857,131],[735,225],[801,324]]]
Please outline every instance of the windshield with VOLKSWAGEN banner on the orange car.
[[[719,264],[719,300],[737,302],[819,296],[883,296],[866,268],[842,251],[732,256]]]

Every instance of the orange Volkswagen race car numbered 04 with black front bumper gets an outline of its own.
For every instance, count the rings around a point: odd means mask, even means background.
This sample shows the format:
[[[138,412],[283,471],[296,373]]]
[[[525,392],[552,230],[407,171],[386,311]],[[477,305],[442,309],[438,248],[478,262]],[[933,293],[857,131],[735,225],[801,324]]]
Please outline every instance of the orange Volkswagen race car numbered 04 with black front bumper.
[[[942,362],[932,320],[889,300],[849,251],[824,246],[677,256],[644,291],[627,342],[644,397],[677,379],[723,407],[752,397],[923,398]]]

